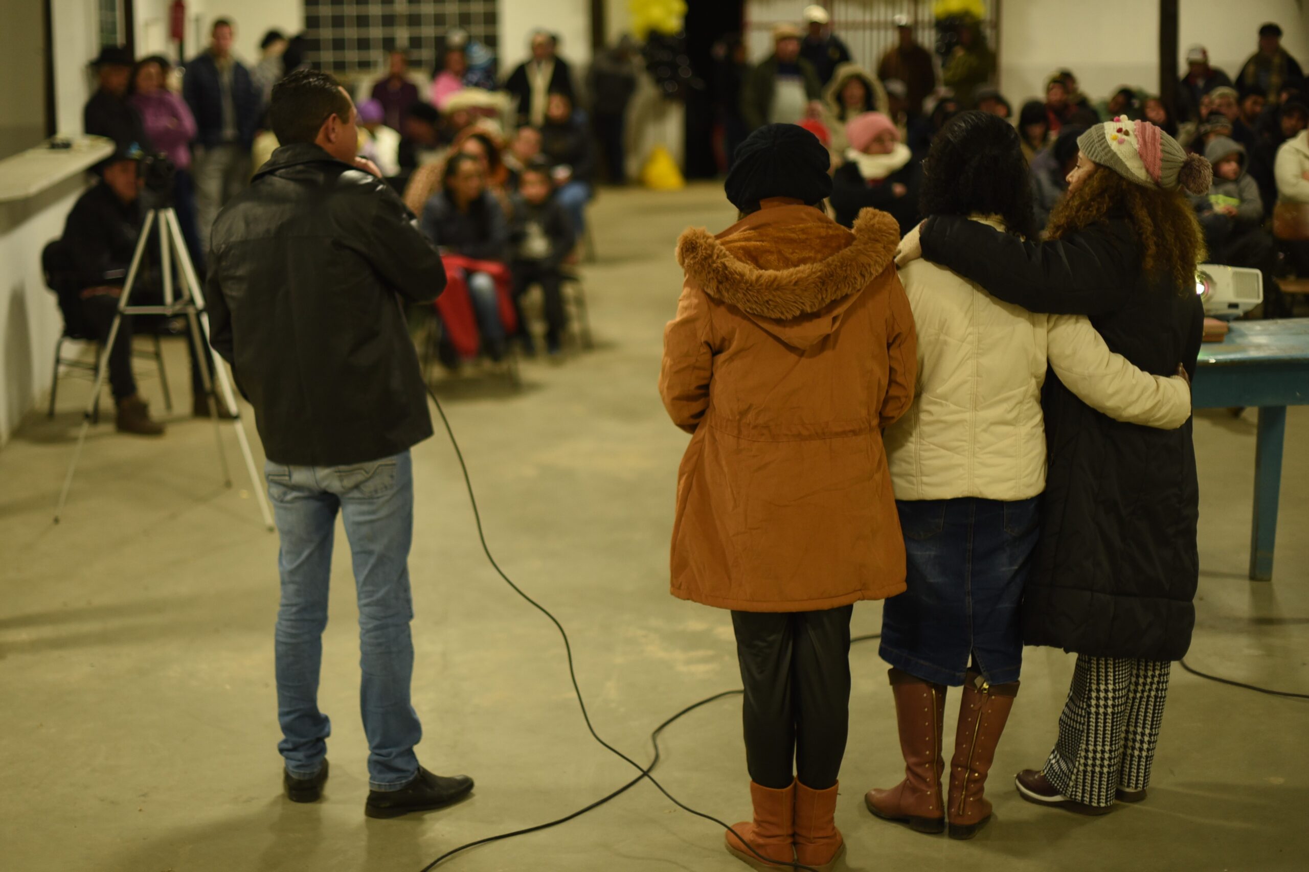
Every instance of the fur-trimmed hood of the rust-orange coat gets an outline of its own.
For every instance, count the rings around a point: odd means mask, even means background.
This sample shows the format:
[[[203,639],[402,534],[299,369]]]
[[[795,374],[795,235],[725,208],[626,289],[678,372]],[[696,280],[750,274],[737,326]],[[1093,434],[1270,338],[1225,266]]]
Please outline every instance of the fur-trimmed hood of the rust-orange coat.
[[[703,228],[682,233],[677,262],[706,295],[806,348],[838,327],[898,244],[899,225],[886,212],[864,209],[851,232],[813,207],[766,202],[716,237]]]

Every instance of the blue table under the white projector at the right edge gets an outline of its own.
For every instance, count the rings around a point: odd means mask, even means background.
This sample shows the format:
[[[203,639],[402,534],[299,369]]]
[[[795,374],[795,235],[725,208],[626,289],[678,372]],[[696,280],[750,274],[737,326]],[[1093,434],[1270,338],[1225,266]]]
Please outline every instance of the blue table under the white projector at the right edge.
[[[1309,405],[1309,318],[1234,321],[1221,343],[1207,342],[1200,348],[1191,395],[1196,409],[1259,410],[1250,579],[1270,581],[1287,406]],[[1300,443],[1301,448],[1305,444]]]

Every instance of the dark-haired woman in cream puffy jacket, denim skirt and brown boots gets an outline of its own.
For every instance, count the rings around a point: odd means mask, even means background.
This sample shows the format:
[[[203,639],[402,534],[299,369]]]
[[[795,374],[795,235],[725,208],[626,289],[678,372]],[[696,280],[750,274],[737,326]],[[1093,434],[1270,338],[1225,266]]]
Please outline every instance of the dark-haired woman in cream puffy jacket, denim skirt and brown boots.
[[[1003,119],[963,113],[927,162],[924,213],[1030,230],[1022,147]],[[1166,429],[1190,416],[1190,388],[1111,354],[1085,317],[1026,312],[925,261],[910,263],[901,280],[919,376],[910,411],[885,435],[908,566],[907,590],[882,613],[881,656],[893,666],[906,776],[865,801],[915,830],[949,824],[952,837],[971,838],[990,818],[982,788],[1018,689],[1018,604],[1046,486],[1047,367],[1103,414]],[[942,796],[945,689],[961,685]]]

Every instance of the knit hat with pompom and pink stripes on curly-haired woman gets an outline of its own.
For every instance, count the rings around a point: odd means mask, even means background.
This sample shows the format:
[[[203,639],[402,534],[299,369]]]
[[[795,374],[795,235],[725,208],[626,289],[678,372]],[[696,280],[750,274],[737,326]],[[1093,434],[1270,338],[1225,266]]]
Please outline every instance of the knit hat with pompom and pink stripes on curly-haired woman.
[[[1145,187],[1204,194],[1213,179],[1207,160],[1187,154],[1175,139],[1148,120],[1134,122],[1119,115],[1079,136],[1077,148],[1089,160]]]

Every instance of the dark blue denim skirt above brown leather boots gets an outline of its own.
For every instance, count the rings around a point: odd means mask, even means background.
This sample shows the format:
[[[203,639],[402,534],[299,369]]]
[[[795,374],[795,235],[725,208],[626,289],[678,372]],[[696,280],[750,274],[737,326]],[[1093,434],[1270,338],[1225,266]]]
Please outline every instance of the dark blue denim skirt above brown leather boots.
[[[1039,503],[897,500],[908,572],[882,609],[882,660],[937,685],[962,685],[970,663],[988,683],[1017,681]]]

